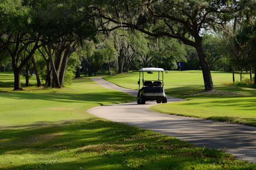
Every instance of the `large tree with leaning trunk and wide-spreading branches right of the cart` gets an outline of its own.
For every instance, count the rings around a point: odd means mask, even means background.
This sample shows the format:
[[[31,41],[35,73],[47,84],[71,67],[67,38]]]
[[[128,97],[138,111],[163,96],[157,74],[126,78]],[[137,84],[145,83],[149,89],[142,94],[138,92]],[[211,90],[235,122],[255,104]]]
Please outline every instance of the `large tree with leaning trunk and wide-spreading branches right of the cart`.
[[[248,4],[245,1],[229,3],[225,0],[144,0],[142,4],[137,0],[125,0],[106,3],[98,16],[117,26],[105,26],[105,31],[128,27],[132,31],[137,29],[155,37],[168,36],[193,46],[200,60],[205,91],[214,88],[209,62],[202,47],[201,33],[203,30],[216,29],[218,25],[225,24],[231,20],[232,13],[242,10]],[[109,10],[105,9],[106,5]]]

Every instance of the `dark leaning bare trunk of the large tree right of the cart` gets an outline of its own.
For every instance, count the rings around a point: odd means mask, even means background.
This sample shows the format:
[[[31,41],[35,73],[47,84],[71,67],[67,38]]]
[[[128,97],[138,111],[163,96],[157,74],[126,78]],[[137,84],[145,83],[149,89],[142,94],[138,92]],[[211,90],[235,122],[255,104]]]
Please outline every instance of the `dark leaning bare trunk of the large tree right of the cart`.
[[[202,38],[199,36],[195,38],[195,49],[198,53],[199,61],[202,68],[203,78],[204,78],[204,91],[212,91],[214,90],[213,81],[211,78],[211,71],[209,67],[209,63],[206,58],[206,54],[202,49]]]

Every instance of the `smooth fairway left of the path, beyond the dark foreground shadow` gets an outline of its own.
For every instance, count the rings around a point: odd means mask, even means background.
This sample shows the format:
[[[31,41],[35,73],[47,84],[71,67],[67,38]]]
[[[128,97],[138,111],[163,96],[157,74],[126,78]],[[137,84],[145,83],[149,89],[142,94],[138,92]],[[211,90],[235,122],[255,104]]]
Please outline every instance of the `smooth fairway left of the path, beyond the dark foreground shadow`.
[[[102,90],[90,79],[76,79],[72,87],[62,90],[25,89],[0,93],[0,126],[82,119],[88,117],[88,108],[134,100],[125,93]]]

